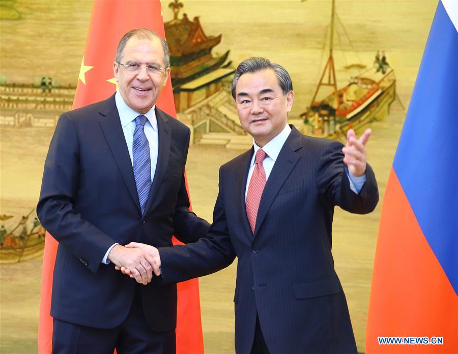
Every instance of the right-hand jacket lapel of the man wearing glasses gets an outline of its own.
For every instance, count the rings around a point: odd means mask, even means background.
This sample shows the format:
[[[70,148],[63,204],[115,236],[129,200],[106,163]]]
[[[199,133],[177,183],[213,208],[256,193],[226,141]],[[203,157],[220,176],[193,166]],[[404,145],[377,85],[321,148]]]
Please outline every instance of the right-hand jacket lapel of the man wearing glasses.
[[[168,165],[168,156],[170,154],[171,143],[171,128],[167,123],[168,118],[165,114],[155,108],[157,119],[157,134],[159,139],[159,151],[157,154],[156,172],[154,173],[153,184],[151,185],[150,194],[145,205],[145,214],[153,207],[154,202],[158,201],[157,194],[162,178],[164,177],[165,170]]]

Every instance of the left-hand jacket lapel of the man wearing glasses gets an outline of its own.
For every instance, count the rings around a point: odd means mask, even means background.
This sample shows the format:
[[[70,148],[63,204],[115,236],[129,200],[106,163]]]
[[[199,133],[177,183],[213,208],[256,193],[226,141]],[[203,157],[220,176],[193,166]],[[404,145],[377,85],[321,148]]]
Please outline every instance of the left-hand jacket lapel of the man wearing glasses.
[[[129,156],[126,138],[124,137],[118,109],[116,108],[115,95],[112,95],[106,101],[106,105],[100,110],[100,114],[102,117],[99,119],[99,124],[102,128],[103,135],[110,147],[111,153],[115,157],[116,164],[118,165],[124,183],[126,184],[138,211],[141,213],[137,187],[135,185],[135,177],[133,174],[132,160]]]

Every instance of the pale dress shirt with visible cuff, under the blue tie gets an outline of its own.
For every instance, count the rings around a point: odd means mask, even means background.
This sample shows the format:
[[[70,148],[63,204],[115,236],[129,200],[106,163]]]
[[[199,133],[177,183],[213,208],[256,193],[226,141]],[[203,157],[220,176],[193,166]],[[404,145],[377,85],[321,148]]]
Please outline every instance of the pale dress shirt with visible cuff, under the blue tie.
[[[141,113],[135,112],[132,108],[126,105],[124,102],[121,93],[119,91],[115,94],[116,108],[118,109],[119,118],[121,121],[121,126],[123,127],[124,138],[126,139],[127,149],[129,150],[130,161],[133,166],[133,156],[132,156],[132,145],[133,145],[133,133],[135,131],[135,118]],[[156,172],[157,165],[157,154],[159,151],[159,137],[157,134],[157,119],[156,112],[154,111],[154,105],[147,113],[143,114],[147,117],[147,122],[145,123],[145,135],[148,139],[148,144],[150,145],[150,159],[151,159],[151,183],[153,183],[154,173]],[[115,247],[118,243],[111,245],[110,248],[105,253],[105,256],[102,260],[102,263],[109,264],[110,261],[107,260],[108,253],[111,251],[111,248]]]

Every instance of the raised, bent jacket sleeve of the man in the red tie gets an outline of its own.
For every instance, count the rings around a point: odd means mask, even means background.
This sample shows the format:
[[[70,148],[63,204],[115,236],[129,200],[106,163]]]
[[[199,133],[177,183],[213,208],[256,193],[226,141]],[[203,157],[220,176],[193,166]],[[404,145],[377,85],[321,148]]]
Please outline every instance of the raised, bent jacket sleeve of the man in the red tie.
[[[316,185],[320,195],[331,205],[357,214],[367,214],[379,201],[379,190],[374,171],[366,164],[366,182],[356,194],[350,188],[345,172],[343,145],[329,142],[323,149],[316,173]]]

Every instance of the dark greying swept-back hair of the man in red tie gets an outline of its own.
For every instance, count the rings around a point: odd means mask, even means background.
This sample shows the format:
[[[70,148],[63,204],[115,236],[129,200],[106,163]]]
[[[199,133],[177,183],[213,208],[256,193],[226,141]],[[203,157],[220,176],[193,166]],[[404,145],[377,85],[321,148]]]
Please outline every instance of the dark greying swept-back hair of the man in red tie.
[[[293,90],[293,82],[291,81],[291,76],[288,74],[286,69],[277,63],[272,63],[269,59],[263,58],[260,56],[252,56],[248,59],[243,60],[236,69],[234,74],[234,79],[232,80],[232,96],[234,100],[235,88],[240,77],[246,73],[255,73],[257,71],[271,69],[274,71],[277,76],[278,85],[283,91],[283,95],[286,95],[288,92]]]

